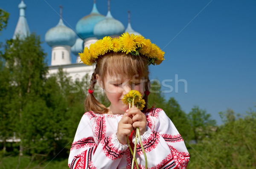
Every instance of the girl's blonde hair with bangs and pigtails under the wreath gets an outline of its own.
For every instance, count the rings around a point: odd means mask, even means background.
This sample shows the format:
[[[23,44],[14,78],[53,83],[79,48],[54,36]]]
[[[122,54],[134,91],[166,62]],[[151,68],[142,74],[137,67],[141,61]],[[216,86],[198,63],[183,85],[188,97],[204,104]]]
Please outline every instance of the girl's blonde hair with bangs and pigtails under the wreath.
[[[150,81],[148,78],[148,59],[141,56],[134,56],[122,52],[109,52],[98,58],[96,67],[90,80],[89,89],[93,90],[97,82],[96,74],[102,78],[109,74],[125,74],[128,78],[132,79],[134,75],[138,78],[145,77],[145,91],[150,89]],[[146,112],[148,96],[144,95],[143,99],[146,104],[143,112]],[[86,111],[93,111],[96,113],[108,113],[108,109],[100,103],[93,94],[89,94],[85,100],[84,107]]]

